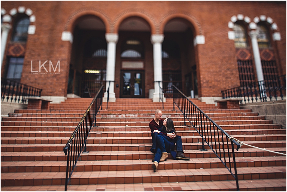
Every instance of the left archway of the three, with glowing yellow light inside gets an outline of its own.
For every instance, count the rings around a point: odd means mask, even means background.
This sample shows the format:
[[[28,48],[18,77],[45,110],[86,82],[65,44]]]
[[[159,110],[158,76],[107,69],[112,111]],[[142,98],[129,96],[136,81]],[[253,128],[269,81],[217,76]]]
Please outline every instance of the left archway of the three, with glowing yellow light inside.
[[[85,15],[74,26],[67,94],[93,97],[106,80],[105,25],[100,18]]]

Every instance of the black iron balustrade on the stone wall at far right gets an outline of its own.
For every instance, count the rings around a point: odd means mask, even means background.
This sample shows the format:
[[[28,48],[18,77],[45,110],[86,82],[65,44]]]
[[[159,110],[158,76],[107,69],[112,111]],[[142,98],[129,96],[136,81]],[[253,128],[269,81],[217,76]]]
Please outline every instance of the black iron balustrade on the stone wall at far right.
[[[254,102],[277,101],[278,97],[286,96],[286,74],[272,79],[254,81],[245,86],[234,87],[221,91],[222,98],[242,98],[244,104]],[[269,98],[267,100],[267,98]],[[243,104],[243,101],[240,104]]]

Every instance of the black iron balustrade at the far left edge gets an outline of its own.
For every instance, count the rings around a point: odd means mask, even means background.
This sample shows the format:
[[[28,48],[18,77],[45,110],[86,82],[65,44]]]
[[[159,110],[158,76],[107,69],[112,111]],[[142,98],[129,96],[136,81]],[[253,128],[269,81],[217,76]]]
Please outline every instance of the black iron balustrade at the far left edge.
[[[1,78],[1,101],[26,104],[25,97],[40,97],[43,89],[38,89],[14,80]],[[10,101],[9,101],[10,100]]]

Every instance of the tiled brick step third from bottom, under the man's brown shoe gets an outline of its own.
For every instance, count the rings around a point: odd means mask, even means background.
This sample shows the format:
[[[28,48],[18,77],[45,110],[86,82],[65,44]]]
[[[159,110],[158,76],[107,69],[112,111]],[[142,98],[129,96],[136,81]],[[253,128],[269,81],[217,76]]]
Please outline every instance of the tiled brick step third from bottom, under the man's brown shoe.
[[[286,158],[280,157],[247,157],[237,158],[238,167],[272,167],[286,166]],[[139,160],[105,160],[105,161],[79,161],[77,171],[138,171],[150,170],[150,159]],[[197,158],[180,162],[168,159],[159,164],[158,170],[170,169],[200,169],[224,168],[218,158]],[[18,161],[2,162],[1,173],[18,172],[66,172],[65,161]]]

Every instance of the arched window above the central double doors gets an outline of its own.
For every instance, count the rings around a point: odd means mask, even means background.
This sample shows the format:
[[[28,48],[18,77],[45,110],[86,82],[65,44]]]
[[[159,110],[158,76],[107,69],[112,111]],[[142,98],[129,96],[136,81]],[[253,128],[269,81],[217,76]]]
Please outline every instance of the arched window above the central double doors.
[[[121,58],[143,58],[143,45],[136,39],[128,39],[121,45]]]

